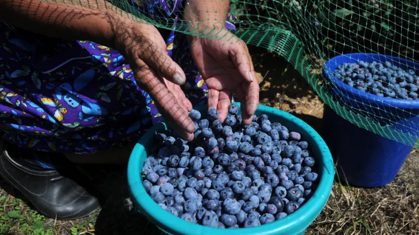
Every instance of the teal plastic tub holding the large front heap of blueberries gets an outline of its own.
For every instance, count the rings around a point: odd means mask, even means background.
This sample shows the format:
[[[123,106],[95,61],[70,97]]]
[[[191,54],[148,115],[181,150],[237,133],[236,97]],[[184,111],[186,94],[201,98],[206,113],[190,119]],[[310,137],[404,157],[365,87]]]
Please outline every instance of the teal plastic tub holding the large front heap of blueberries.
[[[240,103],[237,103],[240,105]],[[206,116],[208,106],[195,108]],[[147,158],[147,150],[154,142],[154,136],[167,129],[165,123],[158,123],[145,133],[134,147],[128,162],[128,186],[136,209],[163,232],[171,235],[303,235],[326,205],[332,190],[335,169],[332,155],[323,139],[306,122],[291,114],[259,105],[256,115],[267,114],[273,122],[285,125],[290,131],[299,132],[309,143],[311,155],[316,160],[320,182],[312,197],[299,210],[270,224],[236,230],[210,228],[184,221],[163,210],[147,194],[142,186],[141,169]]]

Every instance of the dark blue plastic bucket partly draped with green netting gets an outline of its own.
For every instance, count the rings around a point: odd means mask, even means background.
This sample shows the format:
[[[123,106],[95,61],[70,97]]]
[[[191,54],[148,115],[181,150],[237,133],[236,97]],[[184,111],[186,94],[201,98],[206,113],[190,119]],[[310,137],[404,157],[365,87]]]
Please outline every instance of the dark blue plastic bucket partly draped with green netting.
[[[398,57],[380,54],[345,54],[332,58],[323,67],[326,80],[333,82],[333,95],[345,107],[367,116],[382,126],[391,125],[400,132],[417,136],[419,132],[419,101],[380,97],[352,88],[333,75],[343,63],[386,62],[404,70],[417,71],[419,64]],[[391,115],[389,115],[391,114]],[[330,147],[339,177],[360,187],[379,187],[397,175],[412,145],[391,141],[353,125],[338,116],[330,107],[324,111],[323,136]]]

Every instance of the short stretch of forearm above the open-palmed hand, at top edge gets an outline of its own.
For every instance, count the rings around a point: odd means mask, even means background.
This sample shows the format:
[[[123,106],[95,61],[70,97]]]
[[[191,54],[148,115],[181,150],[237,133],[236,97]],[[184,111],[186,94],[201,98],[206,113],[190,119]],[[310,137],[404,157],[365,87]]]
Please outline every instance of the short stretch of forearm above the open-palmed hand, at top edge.
[[[188,0],[185,5],[185,20],[199,29],[223,28],[229,0]]]

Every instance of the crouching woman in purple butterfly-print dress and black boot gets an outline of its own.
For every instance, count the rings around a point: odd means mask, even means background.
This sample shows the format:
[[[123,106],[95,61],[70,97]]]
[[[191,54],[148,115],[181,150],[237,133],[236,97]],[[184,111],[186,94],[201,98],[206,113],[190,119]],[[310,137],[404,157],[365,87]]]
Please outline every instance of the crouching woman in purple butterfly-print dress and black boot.
[[[99,205],[57,169],[77,175],[72,163],[126,163],[163,118],[192,140],[192,107],[208,102],[223,121],[232,93],[250,123],[259,98],[249,51],[230,32],[228,0],[130,0],[150,19],[209,28],[208,37],[172,31],[166,42],[109,2],[77,3],[0,0],[0,175],[58,219]]]

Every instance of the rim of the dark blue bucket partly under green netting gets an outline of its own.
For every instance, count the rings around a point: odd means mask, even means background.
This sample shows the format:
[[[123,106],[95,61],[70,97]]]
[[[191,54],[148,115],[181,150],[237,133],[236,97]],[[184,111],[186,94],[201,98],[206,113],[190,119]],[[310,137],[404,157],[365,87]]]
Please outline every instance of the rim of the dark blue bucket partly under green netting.
[[[384,55],[384,54],[375,54],[375,53],[348,53],[348,54],[342,54],[342,55],[335,56],[332,59],[328,60],[323,66],[323,76],[327,80],[332,80],[332,82],[336,85],[336,87],[339,88],[339,91],[340,91],[341,94],[344,94],[344,93],[352,94],[352,95],[354,95],[354,96],[356,96],[360,99],[363,99],[363,100],[366,99],[369,102],[379,103],[380,105],[384,105],[384,106],[390,106],[390,107],[395,106],[395,107],[398,107],[398,108],[419,109],[419,100],[404,100],[404,99],[395,99],[395,98],[391,98],[391,97],[381,97],[381,96],[378,96],[378,95],[375,95],[375,94],[370,94],[370,93],[367,93],[367,92],[363,92],[363,91],[358,90],[356,88],[353,88],[353,87],[343,83],[339,79],[337,79],[335,77],[335,75],[333,75],[333,71],[331,71],[331,69],[329,69],[331,67],[330,66],[331,64],[336,64],[337,65],[336,60],[338,60],[338,59],[344,60],[345,57],[348,57],[348,58],[353,57],[353,59],[356,59],[356,60],[359,61],[360,60],[359,58],[361,56],[371,56],[374,61],[377,61],[377,60],[382,61],[382,59],[388,59],[388,60],[391,60],[391,61],[396,61],[399,64],[402,63],[402,62],[405,62],[407,64],[413,64],[415,66],[415,68],[419,68],[418,63],[413,62],[411,60],[406,60],[406,59],[403,59],[403,58],[400,58],[400,57]],[[348,62],[344,62],[344,63],[348,63]],[[357,100],[355,100],[355,101],[357,101]]]

